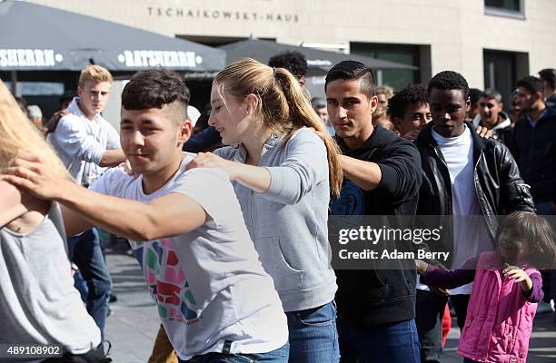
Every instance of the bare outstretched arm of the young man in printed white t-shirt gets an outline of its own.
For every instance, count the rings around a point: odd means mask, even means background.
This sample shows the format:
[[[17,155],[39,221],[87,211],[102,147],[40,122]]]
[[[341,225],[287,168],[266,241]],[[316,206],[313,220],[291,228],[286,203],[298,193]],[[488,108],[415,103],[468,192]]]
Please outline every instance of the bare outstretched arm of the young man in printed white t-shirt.
[[[204,209],[181,193],[170,193],[149,203],[129,201],[89,191],[72,181],[56,177],[40,157],[21,155],[6,169],[2,179],[29,191],[37,198],[59,201],[69,233],[87,228],[84,220],[129,240],[154,240],[193,231],[207,220]]]

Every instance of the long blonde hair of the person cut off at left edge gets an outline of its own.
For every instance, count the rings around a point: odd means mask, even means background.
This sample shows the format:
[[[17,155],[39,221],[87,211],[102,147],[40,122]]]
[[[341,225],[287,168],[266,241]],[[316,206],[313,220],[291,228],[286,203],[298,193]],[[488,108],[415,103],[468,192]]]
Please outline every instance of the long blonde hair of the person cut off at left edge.
[[[45,138],[29,123],[12,94],[0,80],[0,172],[19,152],[41,152],[43,163],[57,175],[70,178],[65,166]]]

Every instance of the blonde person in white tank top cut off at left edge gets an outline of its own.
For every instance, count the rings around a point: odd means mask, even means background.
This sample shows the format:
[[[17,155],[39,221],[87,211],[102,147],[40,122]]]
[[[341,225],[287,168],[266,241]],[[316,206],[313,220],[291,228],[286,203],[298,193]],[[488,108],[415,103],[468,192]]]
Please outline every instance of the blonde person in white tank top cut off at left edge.
[[[70,178],[0,81],[0,173],[25,152]],[[100,331],[74,289],[60,207],[0,181],[0,341],[59,344],[65,356],[104,361]],[[76,358],[76,357],[75,357]],[[67,361],[73,358],[68,357]]]

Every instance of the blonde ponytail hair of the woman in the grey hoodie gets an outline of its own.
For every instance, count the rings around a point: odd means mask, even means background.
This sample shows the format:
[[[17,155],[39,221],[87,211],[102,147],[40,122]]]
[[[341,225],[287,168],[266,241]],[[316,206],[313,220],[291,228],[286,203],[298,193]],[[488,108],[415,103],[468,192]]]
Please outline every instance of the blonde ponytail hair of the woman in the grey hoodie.
[[[216,75],[213,86],[224,99],[224,90],[242,99],[247,94],[259,98],[258,114],[263,125],[285,135],[286,142],[303,126],[313,127],[324,135],[329,166],[330,189],[339,195],[343,171],[340,148],[326,131],[319,116],[305,97],[297,79],[285,68],[273,68],[252,58],[243,58],[226,66]]]

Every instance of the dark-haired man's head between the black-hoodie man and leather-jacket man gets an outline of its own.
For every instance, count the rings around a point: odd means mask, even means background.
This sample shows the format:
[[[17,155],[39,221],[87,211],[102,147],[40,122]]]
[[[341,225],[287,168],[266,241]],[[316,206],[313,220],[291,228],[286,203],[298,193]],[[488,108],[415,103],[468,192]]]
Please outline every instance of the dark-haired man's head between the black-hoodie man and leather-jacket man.
[[[432,119],[427,90],[413,83],[394,93],[388,102],[388,116],[402,138],[415,140]]]

